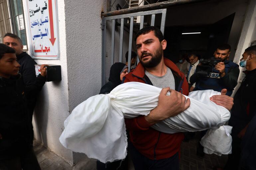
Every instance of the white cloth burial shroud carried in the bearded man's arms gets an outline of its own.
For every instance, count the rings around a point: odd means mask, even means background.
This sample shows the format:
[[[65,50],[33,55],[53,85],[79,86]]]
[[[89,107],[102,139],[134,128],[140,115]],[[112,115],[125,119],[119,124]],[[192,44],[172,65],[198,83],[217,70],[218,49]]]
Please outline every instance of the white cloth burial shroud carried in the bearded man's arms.
[[[109,94],[88,98],[76,106],[65,120],[60,142],[74,152],[85,153],[89,158],[104,163],[124,159],[127,154],[124,118],[148,115],[157,106],[160,91],[161,88],[153,85],[129,82],[118,85]],[[230,112],[209,100],[216,94],[220,93],[213,90],[191,92],[189,96],[185,96],[191,100],[187,110],[155,124],[152,128],[170,134],[218,129],[229,120]],[[170,95],[170,92],[167,95]],[[225,133],[221,133],[223,134]],[[218,134],[214,134],[214,137],[216,136]],[[230,148],[231,142],[229,143],[230,145],[225,147]],[[213,147],[208,149],[215,149],[221,143],[210,145]]]

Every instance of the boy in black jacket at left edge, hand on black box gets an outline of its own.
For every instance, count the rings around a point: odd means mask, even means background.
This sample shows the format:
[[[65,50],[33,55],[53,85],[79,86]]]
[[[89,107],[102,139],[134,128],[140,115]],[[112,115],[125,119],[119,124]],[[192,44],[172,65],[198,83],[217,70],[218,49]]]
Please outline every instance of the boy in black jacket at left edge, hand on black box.
[[[27,98],[34,97],[46,82],[46,65],[35,82],[25,86],[15,50],[0,44],[0,169],[41,170],[31,139]]]

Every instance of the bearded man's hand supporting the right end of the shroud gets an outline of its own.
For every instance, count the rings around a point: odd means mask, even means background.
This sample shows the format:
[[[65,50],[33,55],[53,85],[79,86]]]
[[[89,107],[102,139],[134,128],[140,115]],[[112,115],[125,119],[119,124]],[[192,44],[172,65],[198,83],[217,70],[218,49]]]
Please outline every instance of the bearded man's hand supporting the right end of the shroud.
[[[234,99],[230,96],[227,96],[226,93],[227,93],[227,89],[224,88],[221,90],[221,95],[213,95],[210,97],[210,100],[219,106],[225,107],[230,111],[234,104],[233,102]]]

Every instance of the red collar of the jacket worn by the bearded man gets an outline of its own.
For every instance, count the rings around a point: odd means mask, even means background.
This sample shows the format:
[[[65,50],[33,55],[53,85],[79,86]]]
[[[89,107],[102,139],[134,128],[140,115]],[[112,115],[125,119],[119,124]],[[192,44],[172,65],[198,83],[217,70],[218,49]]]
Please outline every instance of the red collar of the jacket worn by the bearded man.
[[[175,72],[176,75],[183,78],[183,73],[180,72],[179,68],[169,59],[164,58],[164,63],[167,67],[169,67],[173,72]],[[142,64],[139,62],[137,67],[134,69],[132,75],[144,78],[145,76],[145,68],[142,66]]]

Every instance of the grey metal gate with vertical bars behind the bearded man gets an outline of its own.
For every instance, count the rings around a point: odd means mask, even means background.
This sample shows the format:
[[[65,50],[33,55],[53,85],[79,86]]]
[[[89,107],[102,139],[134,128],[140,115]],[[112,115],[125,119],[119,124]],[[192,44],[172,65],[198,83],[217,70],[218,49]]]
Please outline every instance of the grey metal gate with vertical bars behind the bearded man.
[[[165,19],[166,19],[166,9],[158,9],[152,11],[143,11],[143,12],[136,12],[130,14],[123,14],[123,15],[116,15],[110,17],[102,17],[102,85],[106,83],[106,25],[107,21],[112,21],[112,33],[111,33],[111,65],[114,64],[114,45],[115,45],[115,27],[116,27],[116,19],[121,19],[120,24],[120,45],[119,45],[119,62],[122,62],[122,55],[123,55],[123,33],[124,33],[124,19],[130,18],[130,32],[129,32],[129,47],[128,47],[128,71],[130,71],[130,64],[131,64],[131,51],[132,51],[132,35],[133,35],[133,24],[134,18],[140,16],[140,29],[143,28],[144,25],[144,16],[151,15],[151,26],[155,25],[155,16],[156,14],[162,14],[161,17],[161,31],[164,34],[165,29]],[[137,60],[138,62],[139,60]]]

